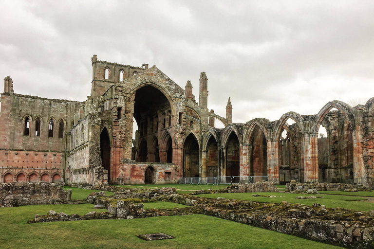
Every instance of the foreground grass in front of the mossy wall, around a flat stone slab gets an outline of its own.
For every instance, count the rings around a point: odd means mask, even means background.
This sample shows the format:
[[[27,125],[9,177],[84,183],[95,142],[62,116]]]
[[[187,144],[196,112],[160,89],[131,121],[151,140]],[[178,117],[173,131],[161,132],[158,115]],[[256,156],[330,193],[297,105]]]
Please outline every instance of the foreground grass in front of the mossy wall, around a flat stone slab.
[[[206,215],[162,216],[131,220],[86,220],[25,224],[35,213],[84,214],[93,205],[40,205],[0,209],[1,249],[11,248],[253,248],[337,249],[310,240]],[[98,210],[96,210],[97,212]],[[175,239],[144,241],[136,237],[163,232]]]

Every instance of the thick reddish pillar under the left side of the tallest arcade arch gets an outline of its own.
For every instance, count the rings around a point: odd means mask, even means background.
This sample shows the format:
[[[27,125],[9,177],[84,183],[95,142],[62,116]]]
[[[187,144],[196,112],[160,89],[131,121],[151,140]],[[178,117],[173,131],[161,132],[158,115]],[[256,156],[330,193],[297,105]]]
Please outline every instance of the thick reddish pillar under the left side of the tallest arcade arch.
[[[318,182],[318,133],[304,133],[304,181]]]

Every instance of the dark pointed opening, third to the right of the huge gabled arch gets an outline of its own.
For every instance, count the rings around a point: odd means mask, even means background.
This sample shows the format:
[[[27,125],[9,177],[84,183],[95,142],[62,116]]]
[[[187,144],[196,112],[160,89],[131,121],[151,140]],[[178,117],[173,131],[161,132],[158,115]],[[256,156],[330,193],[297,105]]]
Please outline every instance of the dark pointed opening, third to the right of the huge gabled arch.
[[[226,144],[226,177],[240,176],[240,143],[235,132],[231,132]]]

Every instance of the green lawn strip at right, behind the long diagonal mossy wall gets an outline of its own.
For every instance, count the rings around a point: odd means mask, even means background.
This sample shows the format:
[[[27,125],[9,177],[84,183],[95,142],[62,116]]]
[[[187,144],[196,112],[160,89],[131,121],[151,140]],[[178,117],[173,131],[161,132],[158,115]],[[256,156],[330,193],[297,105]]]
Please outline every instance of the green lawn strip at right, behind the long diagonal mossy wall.
[[[269,198],[269,197],[254,197],[253,194],[258,195],[267,195],[267,196],[277,196],[277,198]],[[354,209],[358,211],[369,211],[374,209],[374,203],[364,201],[365,198],[359,196],[333,196],[333,195],[321,195],[323,199],[297,199],[297,196],[308,196],[308,195],[300,195],[300,194],[289,194],[289,193],[234,193],[234,194],[204,194],[199,195],[202,197],[207,198],[217,198],[217,197],[224,197],[226,199],[237,199],[237,200],[251,200],[251,201],[258,201],[258,202],[272,202],[272,203],[280,203],[281,201],[285,200],[289,203],[300,203],[305,205],[312,205],[313,203],[319,203],[321,205],[326,205],[329,208],[346,208],[346,209]],[[284,196],[284,197],[280,197]]]

